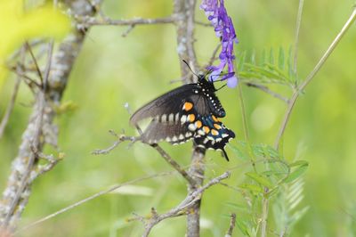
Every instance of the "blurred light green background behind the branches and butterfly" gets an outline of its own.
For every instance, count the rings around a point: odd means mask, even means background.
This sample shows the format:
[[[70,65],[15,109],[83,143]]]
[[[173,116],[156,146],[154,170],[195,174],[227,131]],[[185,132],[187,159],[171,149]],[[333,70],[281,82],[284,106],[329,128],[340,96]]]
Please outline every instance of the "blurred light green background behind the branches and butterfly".
[[[199,4],[199,2],[198,2]],[[305,78],[325,52],[352,12],[353,0],[305,1],[298,70]],[[262,53],[271,47],[288,48],[294,43],[298,1],[226,1],[239,38],[236,53]],[[173,10],[166,0],[105,0],[102,8],[113,19],[163,17]],[[198,10],[197,19],[206,21]],[[125,102],[136,110],[143,103],[169,89],[180,78],[173,25],[136,26],[121,37],[125,27],[93,27],[70,75],[63,102],[73,102],[77,110],[57,119],[59,144],[66,157],[53,171],[38,178],[20,225],[53,213],[86,196],[135,177],[172,170],[157,151],[141,143],[130,149],[123,143],[105,156],[91,151],[106,148],[114,138],[108,130],[134,135],[129,127]],[[196,52],[206,64],[218,39],[213,29],[197,26]],[[293,111],[284,138],[287,159],[308,160],[304,199],[309,211],[295,226],[291,236],[354,236],[356,234],[356,26],[344,37],[319,74],[307,87]],[[0,94],[4,112],[14,79],[8,79]],[[253,143],[273,144],[285,104],[268,94],[243,86],[247,102],[247,122]],[[283,90],[283,94],[287,93]],[[243,139],[238,90],[224,88],[218,93],[227,118],[224,123]],[[30,99],[29,99],[30,98]],[[31,108],[24,106],[32,95],[22,85],[4,138],[0,141],[2,160],[0,190],[4,190],[12,159],[20,144]],[[233,141],[232,143],[237,143]],[[182,166],[190,164],[191,143],[163,144]],[[52,152],[48,149],[48,152]],[[218,152],[206,155],[207,178],[234,168],[231,185],[239,185],[250,170],[245,160],[228,151],[231,162]],[[107,194],[74,208],[61,216],[20,233],[20,236],[140,236],[140,222],[126,222],[132,213],[147,215],[151,207],[159,213],[173,208],[185,197],[186,184],[178,175],[157,177],[122,192]],[[203,199],[202,236],[222,236],[228,228],[232,209],[228,202],[243,203],[239,192],[221,185],[210,188]],[[238,211],[239,216],[239,211]],[[272,216],[270,217],[272,222]],[[353,229],[352,229],[353,228]],[[168,219],[157,225],[152,236],[183,236],[185,218]],[[352,234],[353,233],[353,234]],[[240,236],[236,230],[236,236]]]

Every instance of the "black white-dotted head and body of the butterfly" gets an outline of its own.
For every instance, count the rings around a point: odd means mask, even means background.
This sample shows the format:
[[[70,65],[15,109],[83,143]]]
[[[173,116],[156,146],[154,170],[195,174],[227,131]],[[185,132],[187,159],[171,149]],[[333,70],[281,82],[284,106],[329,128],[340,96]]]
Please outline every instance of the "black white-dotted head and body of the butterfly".
[[[200,87],[201,92],[206,96],[209,107],[214,116],[219,118],[225,117],[226,112],[223,110],[223,105],[215,94],[216,89],[214,83],[207,80],[206,75],[198,75],[198,86]]]

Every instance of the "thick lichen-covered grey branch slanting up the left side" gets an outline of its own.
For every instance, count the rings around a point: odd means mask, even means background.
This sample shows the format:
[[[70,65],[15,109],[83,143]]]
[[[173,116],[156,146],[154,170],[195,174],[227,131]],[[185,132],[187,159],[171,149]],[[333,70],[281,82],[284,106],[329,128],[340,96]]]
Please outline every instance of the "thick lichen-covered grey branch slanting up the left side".
[[[72,12],[77,15],[93,15],[93,8],[86,0],[65,1]],[[12,231],[15,229],[20,216],[28,203],[32,181],[29,176],[36,176],[36,154],[41,152],[45,144],[56,144],[57,127],[53,125],[56,115],[53,105],[61,102],[61,96],[66,88],[69,73],[77,58],[85,35],[76,31],[66,37],[59,45],[59,49],[47,60],[44,77],[38,70],[38,77],[42,78],[41,86],[46,90],[36,92],[36,103],[28,121],[28,127],[22,135],[22,141],[17,157],[12,161],[12,171],[0,202],[0,224]],[[51,46],[51,45],[50,45]],[[52,48],[52,47],[50,47]],[[50,50],[51,51],[51,50]],[[33,53],[31,53],[33,54]],[[52,54],[49,52],[48,54]],[[36,59],[34,57],[34,62]],[[40,76],[41,75],[41,76]],[[44,168],[40,173],[50,168]]]

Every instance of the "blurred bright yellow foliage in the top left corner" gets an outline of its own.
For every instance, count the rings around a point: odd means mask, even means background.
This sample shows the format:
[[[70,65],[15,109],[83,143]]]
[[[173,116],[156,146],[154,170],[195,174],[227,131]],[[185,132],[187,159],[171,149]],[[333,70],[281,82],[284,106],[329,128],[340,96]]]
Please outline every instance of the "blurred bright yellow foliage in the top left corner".
[[[34,37],[60,39],[69,33],[70,21],[53,5],[25,9],[23,0],[0,0],[0,89],[7,75],[5,62],[25,40]]]

